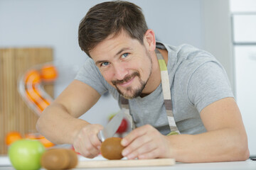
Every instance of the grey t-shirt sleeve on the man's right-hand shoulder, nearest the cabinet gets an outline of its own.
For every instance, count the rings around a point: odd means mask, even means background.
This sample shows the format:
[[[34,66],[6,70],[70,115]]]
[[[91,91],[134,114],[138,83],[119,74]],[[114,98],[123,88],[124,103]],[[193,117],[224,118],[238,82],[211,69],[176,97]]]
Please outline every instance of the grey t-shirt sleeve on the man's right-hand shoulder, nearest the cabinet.
[[[191,74],[188,98],[200,113],[210,103],[222,98],[234,97],[230,81],[218,62],[206,62]]]

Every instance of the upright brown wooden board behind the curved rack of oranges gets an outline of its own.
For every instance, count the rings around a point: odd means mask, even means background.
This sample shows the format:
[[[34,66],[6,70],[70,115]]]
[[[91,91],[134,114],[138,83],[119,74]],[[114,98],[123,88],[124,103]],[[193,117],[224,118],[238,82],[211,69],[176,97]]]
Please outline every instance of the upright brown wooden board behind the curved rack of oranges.
[[[36,132],[38,116],[18,93],[18,78],[36,64],[53,61],[51,48],[0,49],[0,154],[7,153],[4,137],[10,131]],[[45,86],[53,95],[53,85]]]

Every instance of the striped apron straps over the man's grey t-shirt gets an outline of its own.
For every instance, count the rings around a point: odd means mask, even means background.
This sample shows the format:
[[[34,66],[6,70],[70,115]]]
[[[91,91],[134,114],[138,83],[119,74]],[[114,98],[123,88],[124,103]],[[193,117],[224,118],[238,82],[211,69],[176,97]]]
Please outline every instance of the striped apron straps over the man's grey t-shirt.
[[[168,135],[176,135],[180,134],[178,131],[178,128],[176,126],[175,120],[174,120],[174,114],[172,112],[172,105],[171,105],[171,88],[169,84],[169,74],[166,66],[166,62],[164,60],[164,57],[161,55],[159,50],[155,50],[157,60],[159,62],[159,67],[161,70],[161,86],[162,86],[162,91],[163,91],[163,96],[164,96],[164,106],[166,108],[166,116],[168,118],[168,123],[171,132]],[[132,115],[129,113],[129,101],[128,99],[120,96],[120,103],[122,107],[122,112],[126,116],[126,118],[129,120],[129,123],[132,127],[132,129],[136,128],[135,123],[132,120]]]

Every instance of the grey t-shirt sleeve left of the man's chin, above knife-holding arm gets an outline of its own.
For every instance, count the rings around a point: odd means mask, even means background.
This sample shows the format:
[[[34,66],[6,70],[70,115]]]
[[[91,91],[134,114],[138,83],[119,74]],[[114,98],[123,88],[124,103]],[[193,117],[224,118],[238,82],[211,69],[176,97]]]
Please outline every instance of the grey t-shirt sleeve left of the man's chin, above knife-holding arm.
[[[75,79],[88,84],[95,89],[99,94],[105,94],[107,91],[105,79],[100,74],[100,70],[97,69],[95,63],[91,59],[87,59],[82,65]]]

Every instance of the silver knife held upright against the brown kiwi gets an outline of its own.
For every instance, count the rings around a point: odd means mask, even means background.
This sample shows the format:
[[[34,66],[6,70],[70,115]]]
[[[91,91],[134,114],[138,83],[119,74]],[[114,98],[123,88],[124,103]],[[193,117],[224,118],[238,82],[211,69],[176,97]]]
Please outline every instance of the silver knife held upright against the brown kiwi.
[[[101,142],[104,142],[109,137],[112,137],[115,132],[117,132],[117,129],[122,123],[122,120],[124,118],[123,111],[119,111],[117,115],[114,115],[114,117],[110,120],[109,123],[105,126],[103,130],[100,130],[100,132],[97,134],[97,137]]]

